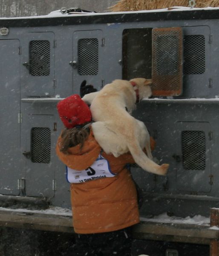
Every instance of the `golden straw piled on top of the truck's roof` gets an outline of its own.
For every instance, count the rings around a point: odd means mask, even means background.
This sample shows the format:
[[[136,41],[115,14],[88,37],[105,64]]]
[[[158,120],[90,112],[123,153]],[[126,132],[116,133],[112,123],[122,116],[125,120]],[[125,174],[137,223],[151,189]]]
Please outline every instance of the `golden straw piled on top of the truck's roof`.
[[[219,7],[219,0],[196,0],[196,6]],[[112,12],[127,12],[140,10],[164,9],[172,6],[189,6],[189,0],[120,0],[109,7]]]

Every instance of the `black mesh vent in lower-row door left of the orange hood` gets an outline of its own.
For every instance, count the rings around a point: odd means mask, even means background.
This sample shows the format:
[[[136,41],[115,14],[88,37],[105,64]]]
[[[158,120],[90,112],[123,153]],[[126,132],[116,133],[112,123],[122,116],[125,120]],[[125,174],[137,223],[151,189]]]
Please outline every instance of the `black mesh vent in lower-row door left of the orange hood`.
[[[49,128],[34,127],[31,130],[31,160],[33,163],[49,163],[51,135]]]

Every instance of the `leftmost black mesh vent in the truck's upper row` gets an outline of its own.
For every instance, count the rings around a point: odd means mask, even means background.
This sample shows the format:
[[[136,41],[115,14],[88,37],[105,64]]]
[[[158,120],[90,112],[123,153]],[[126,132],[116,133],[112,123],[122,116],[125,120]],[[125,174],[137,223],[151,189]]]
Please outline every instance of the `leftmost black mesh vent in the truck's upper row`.
[[[30,74],[32,76],[49,76],[50,43],[47,40],[30,41]]]

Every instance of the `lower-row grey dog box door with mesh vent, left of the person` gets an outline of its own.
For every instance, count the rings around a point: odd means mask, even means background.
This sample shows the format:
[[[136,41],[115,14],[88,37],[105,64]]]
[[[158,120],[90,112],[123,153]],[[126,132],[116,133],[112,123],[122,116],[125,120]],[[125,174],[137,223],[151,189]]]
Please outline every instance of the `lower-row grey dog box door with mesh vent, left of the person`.
[[[25,159],[25,189],[28,196],[52,197],[55,178],[54,116],[26,114],[22,123],[22,149]]]

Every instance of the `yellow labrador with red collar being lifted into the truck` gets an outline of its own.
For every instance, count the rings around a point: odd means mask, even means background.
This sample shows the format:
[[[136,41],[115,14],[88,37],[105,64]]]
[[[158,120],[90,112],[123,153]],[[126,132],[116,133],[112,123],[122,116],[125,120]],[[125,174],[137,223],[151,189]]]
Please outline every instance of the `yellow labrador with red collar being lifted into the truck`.
[[[91,104],[92,130],[103,150],[115,157],[130,151],[135,163],[147,172],[165,175],[169,164],[153,162],[150,135],[143,122],[130,113],[136,102],[151,96],[151,80],[136,78],[114,80],[99,92],[86,94],[82,99]],[[145,148],[147,155],[142,151]]]

